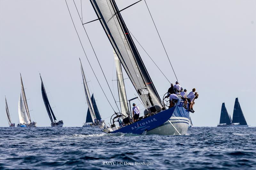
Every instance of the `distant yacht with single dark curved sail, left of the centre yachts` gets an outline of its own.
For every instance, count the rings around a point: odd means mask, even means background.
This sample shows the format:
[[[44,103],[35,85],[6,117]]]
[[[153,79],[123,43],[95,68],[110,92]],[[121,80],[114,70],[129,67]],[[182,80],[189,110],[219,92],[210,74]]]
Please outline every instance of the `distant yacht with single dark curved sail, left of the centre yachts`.
[[[46,111],[50,117],[50,120],[51,120],[51,126],[52,127],[62,127],[63,126],[63,121],[60,120],[59,122],[56,122],[56,117],[55,115],[53,114],[53,111],[52,111],[52,107],[50,106],[50,102],[48,100],[48,97],[47,97],[47,94],[46,94],[46,91],[45,91],[45,88],[44,88],[44,83],[43,83],[43,80],[42,80],[42,77],[41,77],[41,74],[40,75],[40,79],[41,79],[41,91],[42,91],[42,97],[43,97],[43,100],[44,100],[44,106],[46,108]],[[53,118],[53,119],[52,119]]]

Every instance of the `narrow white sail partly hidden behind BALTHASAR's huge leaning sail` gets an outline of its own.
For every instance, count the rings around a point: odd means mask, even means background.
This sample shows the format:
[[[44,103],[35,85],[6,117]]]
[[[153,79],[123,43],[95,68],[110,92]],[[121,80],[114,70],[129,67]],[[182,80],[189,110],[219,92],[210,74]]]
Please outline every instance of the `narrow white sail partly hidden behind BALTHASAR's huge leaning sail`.
[[[124,77],[123,77],[122,67],[116,55],[115,50],[113,50],[113,53],[114,53],[114,60],[116,63],[117,88],[118,88],[119,102],[121,106],[121,113],[127,117],[129,110],[128,110],[126,92],[124,87]]]

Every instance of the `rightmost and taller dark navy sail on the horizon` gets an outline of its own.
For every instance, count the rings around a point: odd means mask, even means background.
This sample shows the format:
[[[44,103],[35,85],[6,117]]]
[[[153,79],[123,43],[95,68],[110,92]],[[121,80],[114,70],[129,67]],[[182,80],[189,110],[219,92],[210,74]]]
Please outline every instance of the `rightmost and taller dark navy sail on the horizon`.
[[[236,98],[236,100],[235,100],[232,123],[239,123],[240,125],[247,125],[247,122],[244,118],[244,114],[240,107],[238,98]]]

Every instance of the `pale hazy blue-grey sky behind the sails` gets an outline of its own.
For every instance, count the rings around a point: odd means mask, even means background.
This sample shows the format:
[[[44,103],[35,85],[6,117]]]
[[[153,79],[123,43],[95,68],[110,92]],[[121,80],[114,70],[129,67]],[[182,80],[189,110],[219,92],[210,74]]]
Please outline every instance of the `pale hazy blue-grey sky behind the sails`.
[[[81,1],[75,1],[81,16]],[[120,9],[136,1],[117,0]],[[194,126],[217,126],[222,102],[233,115],[238,97],[248,125],[256,126],[256,1],[147,1],[176,76],[188,92],[196,88],[191,115]],[[107,83],[75,9],[71,15],[86,55],[111,105],[118,111],[116,70],[112,46],[99,21],[84,25]],[[97,18],[90,1],[82,1],[83,23]],[[125,24],[170,82],[176,78],[144,1],[121,12]],[[134,40],[135,41],[135,40]],[[161,96],[170,83],[142,48],[141,58]],[[32,121],[50,126],[44,107],[39,72],[53,112],[64,126],[81,127],[87,103],[82,85],[81,58],[91,94],[106,122],[114,114],[87,62],[65,1],[0,1],[0,126],[8,126],[4,96],[12,122],[18,123],[20,73]],[[128,78],[124,73],[124,78]],[[136,91],[125,79],[127,99]],[[134,101],[138,105],[138,100]],[[118,103],[117,103],[118,104]],[[140,105],[141,106],[141,105]]]

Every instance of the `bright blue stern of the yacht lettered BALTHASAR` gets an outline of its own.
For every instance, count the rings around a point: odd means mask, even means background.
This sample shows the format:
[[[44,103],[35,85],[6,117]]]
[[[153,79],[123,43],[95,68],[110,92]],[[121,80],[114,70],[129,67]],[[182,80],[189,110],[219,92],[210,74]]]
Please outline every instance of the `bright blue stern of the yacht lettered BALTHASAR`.
[[[145,119],[134,122],[130,125],[127,125],[123,128],[117,129],[111,133],[133,133],[133,134],[142,134],[144,131],[149,131],[156,129],[161,126],[164,122],[168,121],[172,116],[175,107],[169,108],[167,110],[161,111],[156,115],[148,116]]]

